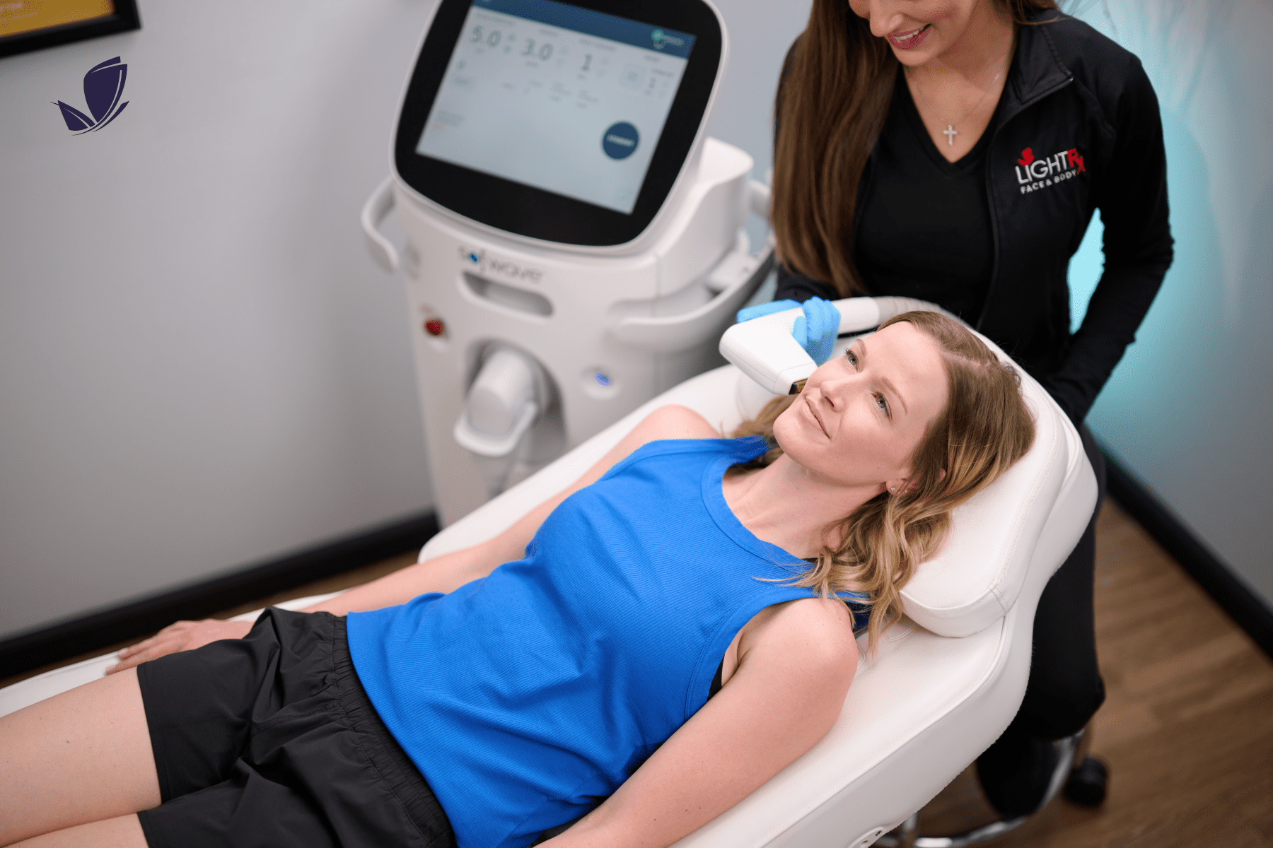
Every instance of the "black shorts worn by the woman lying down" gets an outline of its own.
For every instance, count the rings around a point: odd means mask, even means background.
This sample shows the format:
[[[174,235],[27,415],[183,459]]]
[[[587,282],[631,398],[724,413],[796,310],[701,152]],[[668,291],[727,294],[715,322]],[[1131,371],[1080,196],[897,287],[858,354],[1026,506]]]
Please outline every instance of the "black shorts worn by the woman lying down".
[[[243,639],[137,666],[163,804],[151,848],[454,848],[368,701],[345,619],[267,609]]]

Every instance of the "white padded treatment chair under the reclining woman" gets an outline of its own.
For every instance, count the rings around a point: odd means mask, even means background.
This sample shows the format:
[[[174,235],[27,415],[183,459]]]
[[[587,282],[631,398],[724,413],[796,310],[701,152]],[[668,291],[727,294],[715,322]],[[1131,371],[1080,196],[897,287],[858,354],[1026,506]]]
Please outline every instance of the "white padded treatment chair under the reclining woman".
[[[681,848],[967,844],[941,838],[917,843],[911,816],[1016,713],[1039,595],[1096,503],[1096,479],[1077,431],[1037,383],[1023,373],[1021,381],[1036,418],[1034,446],[956,511],[948,543],[903,592],[906,618],[883,637],[875,659],[862,657],[831,731],[677,843]],[[420,558],[499,533],[572,483],[659,406],[682,404],[728,432],[770,397],[732,365],[687,380],[448,526]],[[90,660],[10,687],[0,692],[0,715],[99,676],[109,661]],[[909,828],[881,839],[906,821]]]

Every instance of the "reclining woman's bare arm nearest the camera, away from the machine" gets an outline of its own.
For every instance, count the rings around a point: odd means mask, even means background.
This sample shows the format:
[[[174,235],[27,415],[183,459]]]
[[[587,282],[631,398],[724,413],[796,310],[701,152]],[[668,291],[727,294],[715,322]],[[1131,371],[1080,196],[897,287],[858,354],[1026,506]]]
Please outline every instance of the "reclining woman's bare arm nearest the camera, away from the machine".
[[[662,848],[738,804],[835,723],[857,670],[830,599],[761,613],[733,678],[600,807],[545,848]]]

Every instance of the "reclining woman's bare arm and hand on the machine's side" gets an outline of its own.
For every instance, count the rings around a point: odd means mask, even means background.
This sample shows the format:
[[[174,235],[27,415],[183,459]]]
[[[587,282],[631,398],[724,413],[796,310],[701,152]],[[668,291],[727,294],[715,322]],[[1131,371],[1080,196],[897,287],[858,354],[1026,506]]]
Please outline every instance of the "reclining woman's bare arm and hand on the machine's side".
[[[544,519],[561,501],[578,492],[584,486],[594,483],[619,460],[628,456],[642,445],[658,439],[712,439],[719,434],[712,428],[703,416],[685,407],[659,407],[633,427],[617,445],[598,459],[588,472],[569,488],[540,503],[518,519],[512,526],[493,539],[462,551],[453,551],[440,557],[418,562],[386,575],[369,584],[356,586],[321,604],[307,606],[306,613],[326,612],[335,615],[368,609],[382,609],[406,601],[425,592],[449,592],[465,584],[485,577],[496,566],[519,559],[526,544],[535,535]],[[154,660],[177,651],[190,651],[218,639],[242,638],[252,628],[252,622],[223,622],[205,619],[201,622],[177,622],[159,631],[144,642],[120,651],[120,662],[107,674],[132,667],[146,660]]]

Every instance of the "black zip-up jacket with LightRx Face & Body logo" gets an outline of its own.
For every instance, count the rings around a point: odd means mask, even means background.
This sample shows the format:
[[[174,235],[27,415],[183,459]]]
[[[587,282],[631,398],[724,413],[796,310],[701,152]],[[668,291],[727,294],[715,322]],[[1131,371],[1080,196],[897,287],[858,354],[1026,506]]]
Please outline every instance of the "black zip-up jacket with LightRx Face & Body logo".
[[[1017,28],[1001,108],[987,128],[993,264],[975,325],[1077,423],[1171,264],[1166,155],[1158,100],[1139,60],[1058,11],[1036,20]],[[858,209],[875,167],[871,156]],[[1067,270],[1097,209],[1105,270],[1071,334]],[[854,216],[854,242],[859,224]],[[838,296],[826,282],[779,270],[777,299],[813,295]]]

